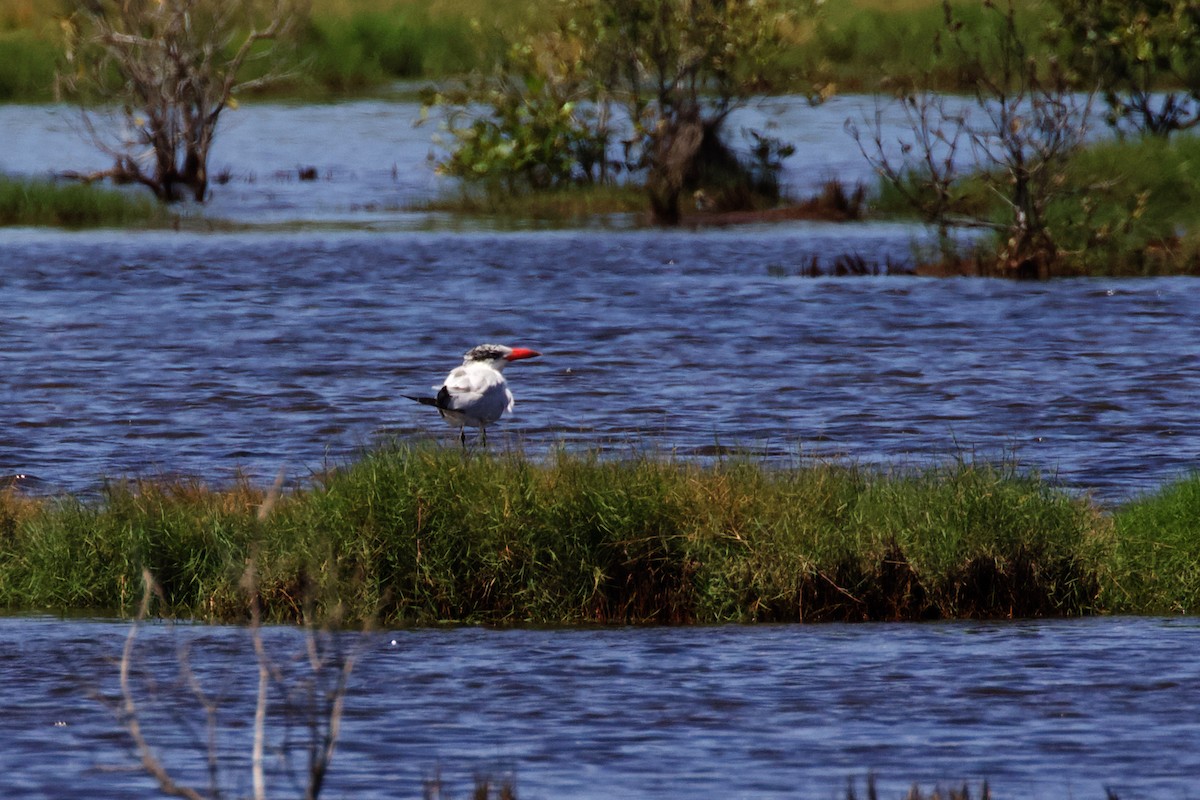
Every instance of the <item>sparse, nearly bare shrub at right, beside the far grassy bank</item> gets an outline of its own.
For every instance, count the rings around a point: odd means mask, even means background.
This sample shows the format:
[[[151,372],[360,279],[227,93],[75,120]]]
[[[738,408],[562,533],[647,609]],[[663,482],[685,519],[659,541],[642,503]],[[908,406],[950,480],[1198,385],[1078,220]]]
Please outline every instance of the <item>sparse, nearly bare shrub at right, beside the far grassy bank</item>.
[[[1012,0],[984,6],[998,17],[995,30],[968,30],[943,6],[938,50],[953,49],[966,65],[970,102],[919,88],[901,92],[910,134],[896,143],[899,157],[884,142],[878,109],[868,132],[853,121],[847,130],[884,182],[937,228],[943,258],[950,228],[984,228],[1000,242],[992,271],[1046,277],[1061,255],[1046,211],[1066,197],[1066,168],[1086,142],[1094,92],[1080,92],[1054,59],[1032,54]]]

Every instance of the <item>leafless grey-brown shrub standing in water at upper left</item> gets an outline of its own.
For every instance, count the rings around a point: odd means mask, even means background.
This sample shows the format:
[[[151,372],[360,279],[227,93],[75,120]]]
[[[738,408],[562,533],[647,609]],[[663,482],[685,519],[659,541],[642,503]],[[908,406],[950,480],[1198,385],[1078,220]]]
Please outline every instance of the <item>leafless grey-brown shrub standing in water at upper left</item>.
[[[114,164],[76,176],[140,184],[168,203],[204,201],[217,121],[235,95],[281,77],[274,46],[292,29],[298,1],[79,4],[65,22],[60,86],[89,104],[84,124]],[[252,62],[256,74],[244,77]]]

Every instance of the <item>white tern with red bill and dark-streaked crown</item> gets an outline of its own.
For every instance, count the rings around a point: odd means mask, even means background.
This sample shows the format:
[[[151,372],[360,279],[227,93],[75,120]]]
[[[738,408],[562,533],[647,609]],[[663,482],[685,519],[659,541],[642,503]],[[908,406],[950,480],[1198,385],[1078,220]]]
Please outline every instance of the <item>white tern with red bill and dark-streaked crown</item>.
[[[462,366],[446,375],[436,397],[413,397],[410,401],[438,409],[442,419],[458,428],[458,440],[467,446],[467,427],[479,428],[479,438],[487,444],[487,426],[512,410],[512,392],[504,379],[504,367],[510,361],[541,355],[528,348],[505,344],[480,344],[467,350]]]

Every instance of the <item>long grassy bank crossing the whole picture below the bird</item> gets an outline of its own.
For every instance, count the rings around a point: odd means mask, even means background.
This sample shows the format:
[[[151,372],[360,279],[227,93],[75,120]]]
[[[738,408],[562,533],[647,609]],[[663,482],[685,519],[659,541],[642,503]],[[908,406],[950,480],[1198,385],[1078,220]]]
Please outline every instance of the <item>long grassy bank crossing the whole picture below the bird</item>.
[[[1006,467],[876,471],[667,458],[367,453],[263,491],[112,483],[0,503],[0,606],[385,624],[721,622],[1194,613],[1200,479],[1115,515]],[[1164,519],[1171,521],[1165,524]]]

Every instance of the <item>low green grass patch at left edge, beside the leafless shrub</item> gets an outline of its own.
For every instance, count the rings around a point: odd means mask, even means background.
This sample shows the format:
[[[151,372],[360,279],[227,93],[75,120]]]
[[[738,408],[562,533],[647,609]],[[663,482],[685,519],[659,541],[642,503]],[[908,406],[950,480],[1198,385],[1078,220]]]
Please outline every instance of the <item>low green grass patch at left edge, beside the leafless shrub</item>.
[[[76,182],[0,176],[0,225],[95,228],[164,224],[168,213],[144,194]]]

